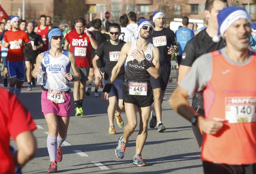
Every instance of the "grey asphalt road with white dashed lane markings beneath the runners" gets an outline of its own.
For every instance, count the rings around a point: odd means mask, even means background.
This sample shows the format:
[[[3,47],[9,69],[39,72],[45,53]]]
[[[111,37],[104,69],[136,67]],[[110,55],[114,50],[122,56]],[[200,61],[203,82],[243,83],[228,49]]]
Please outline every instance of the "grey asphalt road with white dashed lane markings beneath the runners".
[[[168,103],[177,86],[175,70],[172,70],[172,77],[173,82],[168,84],[162,104],[166,131],[158,133],[157,128],[148,129],[148,138],[142,151],[142,156],[148,157],[145,159],[147,167],[136,167],[132,164],[138,126],[129,139],[124,158],[116,157],[115,148],[118,138],[123,134],[123,128],[116,126],[117,134],[108,135],[108,102],[104,103],[100,98],[95,98],[93,88],[91,96],[85,96],[84,99],[85,115],[75,117],[75,112],[72,112],[68,137],[62,145],[63,160],[58,163],[59,173],[203,173],[200,151],[191,124],[175,113]],[[0,86],[2,84],[1,82]],[[99,91],[101,94],[102,89]],[[20,100],[31,112],[38,126],[34,131],[38,144],[37,153],[23,168],[23,173],[46,173],[50,163],[46,146],[48,129],[41,112],[41,92],[39,87],[27,91],[27,83],[24,83],[20,94]],[[121,116],[126,125],[125,113]],[[15,146],[13,140],[11,145]]]

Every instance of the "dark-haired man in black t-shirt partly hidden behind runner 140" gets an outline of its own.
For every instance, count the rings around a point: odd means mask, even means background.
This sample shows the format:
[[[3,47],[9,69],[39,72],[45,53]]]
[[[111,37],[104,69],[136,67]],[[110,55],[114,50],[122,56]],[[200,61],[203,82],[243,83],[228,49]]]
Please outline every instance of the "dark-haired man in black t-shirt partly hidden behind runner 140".
[[[188,74],[196,58],[211,51],[220,50],[225,47],[225,41],[221,39],[218,43],[212,41],[212,37],[218,33],[217,15],[220,10],[227,7],[227,0],[207,0],[205,2],[205,17],[208,18],[208,27],[200,31],[195,37],[188,41],[179,66],[178,83]],[[203,93],[195,93],[192,107],[197,113],[204,116]],[[192,124],[199,147],[202,146],[203,135],[200,130]]]

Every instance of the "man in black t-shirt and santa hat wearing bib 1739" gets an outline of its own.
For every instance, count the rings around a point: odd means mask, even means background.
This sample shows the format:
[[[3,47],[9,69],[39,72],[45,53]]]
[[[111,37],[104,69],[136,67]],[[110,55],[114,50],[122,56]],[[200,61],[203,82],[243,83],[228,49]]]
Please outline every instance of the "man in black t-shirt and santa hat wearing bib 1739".
[[[165,131],[162,123],[162,103],[164,93],[169,82],[171,74],[171,55],[179,51],[179,46],[175,40],[175,34],[172,30],[164,28],[165,15],[161,11],[153,13],[153,21],[155,23],[154,33],[150,37],[150,42],[160,51],[160,76],[155,79],[151,76],[150,83],[154,92],[154,110],[151,111],[151,120],[149,127],[156,127],[157,131]],[[171,45],[173,48],[170,48]]]

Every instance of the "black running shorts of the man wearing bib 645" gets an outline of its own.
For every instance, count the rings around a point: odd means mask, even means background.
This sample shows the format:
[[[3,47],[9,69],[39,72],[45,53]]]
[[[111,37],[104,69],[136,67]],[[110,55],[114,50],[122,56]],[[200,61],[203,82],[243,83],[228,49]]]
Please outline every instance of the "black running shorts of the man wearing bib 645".
[[[150,83],[148,83],[147,96],[130,95],[129,87],[124,83],[123,86],[123,105],[124,103],[132,103],[137,107],[148,107],[154,102],[153,90]]]

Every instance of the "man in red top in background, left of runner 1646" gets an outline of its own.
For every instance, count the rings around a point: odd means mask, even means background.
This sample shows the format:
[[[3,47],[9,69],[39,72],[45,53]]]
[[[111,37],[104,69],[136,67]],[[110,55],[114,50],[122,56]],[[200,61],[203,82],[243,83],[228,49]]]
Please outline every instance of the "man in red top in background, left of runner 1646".
[[[34,31],[35,31],[35,33],[38,33],[44,41],[44,46],[39,49],[39,51],[44,52],[44,51],[48,50],[48,47],[49,47],[48,32],[52,28],[51,28],[51,26],[46,25],[46,16],[44,14],[42,14],[40,16],[40,23],[41,23],[41,25],[36,27]]]

